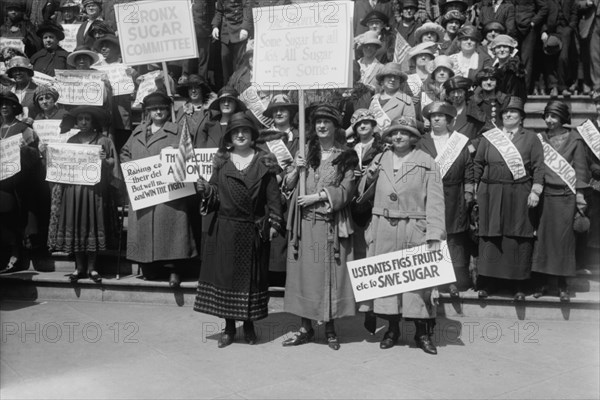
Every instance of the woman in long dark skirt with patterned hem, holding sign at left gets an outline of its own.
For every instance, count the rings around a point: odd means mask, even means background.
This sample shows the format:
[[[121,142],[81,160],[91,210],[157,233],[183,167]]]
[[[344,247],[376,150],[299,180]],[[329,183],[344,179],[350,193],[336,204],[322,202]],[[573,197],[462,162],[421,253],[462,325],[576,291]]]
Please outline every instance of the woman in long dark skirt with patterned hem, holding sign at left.
[[[100,283],[102,278],[96,271],[98,251],[109,247],[117,226],[109,191],[111,186],[118,188],[121,179],[117,151],[112,140],[102,134],[107,116],[101,107],[79,106],[68,117],[77,121],[79,132],[67,143],[101,146],[101,176],[95,185],[57,184],[52,190],[48,247],[75,254],[76,270],[69,276],[71,282],[88,276]]]

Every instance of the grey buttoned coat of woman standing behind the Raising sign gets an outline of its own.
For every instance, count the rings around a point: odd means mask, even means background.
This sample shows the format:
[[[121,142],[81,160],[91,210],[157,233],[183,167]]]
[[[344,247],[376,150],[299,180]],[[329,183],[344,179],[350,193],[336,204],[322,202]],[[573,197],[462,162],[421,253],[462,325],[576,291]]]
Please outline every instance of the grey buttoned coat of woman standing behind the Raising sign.
[[[177,125],[167,122],[150,138],[149,123],[140,124],[121,149],[121,162],[156,156],[167,146],[179,146]],[[133,211],[129,207],[127,258],[141,263],[195,257],[196,245],[190,224],[189,200],[172,200]]]

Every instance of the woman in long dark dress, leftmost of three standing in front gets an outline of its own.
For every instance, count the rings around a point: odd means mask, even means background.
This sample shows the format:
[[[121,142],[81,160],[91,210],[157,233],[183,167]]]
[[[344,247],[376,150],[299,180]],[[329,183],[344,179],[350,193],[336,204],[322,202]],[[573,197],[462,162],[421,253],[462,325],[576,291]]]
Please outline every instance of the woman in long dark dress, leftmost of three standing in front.
[[[214,212],[202,252],[194,310],[225,318],[218,347],[233,343],[235,321],[256,343],[254,321],[268,313],[269,241],[282,232],[277,159],[257,150],[258,130],[244,113],[231,117],[210,182],[200,179],[202,213]]]

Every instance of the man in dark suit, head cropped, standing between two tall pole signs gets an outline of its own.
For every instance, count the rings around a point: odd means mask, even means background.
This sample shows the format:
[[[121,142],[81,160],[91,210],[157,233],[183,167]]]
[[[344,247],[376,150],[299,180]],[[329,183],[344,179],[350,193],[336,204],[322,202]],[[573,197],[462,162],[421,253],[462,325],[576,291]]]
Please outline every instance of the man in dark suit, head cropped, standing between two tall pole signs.
[[[223,82],[229,81],[246,52],[246,43],[254,26],[253,2],[254,0],[217,0],[212,20],[212,37],[221,41]]]

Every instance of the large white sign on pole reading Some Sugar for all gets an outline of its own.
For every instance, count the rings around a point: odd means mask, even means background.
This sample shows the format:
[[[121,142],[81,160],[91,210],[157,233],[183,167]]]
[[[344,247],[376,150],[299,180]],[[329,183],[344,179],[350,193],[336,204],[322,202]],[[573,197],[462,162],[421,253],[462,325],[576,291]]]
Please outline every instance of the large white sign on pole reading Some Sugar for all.
[[[352,87],[353,3],[252,9],[252,82],[265,90]]]

